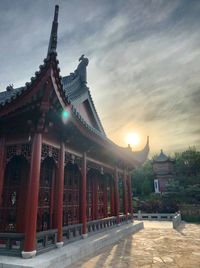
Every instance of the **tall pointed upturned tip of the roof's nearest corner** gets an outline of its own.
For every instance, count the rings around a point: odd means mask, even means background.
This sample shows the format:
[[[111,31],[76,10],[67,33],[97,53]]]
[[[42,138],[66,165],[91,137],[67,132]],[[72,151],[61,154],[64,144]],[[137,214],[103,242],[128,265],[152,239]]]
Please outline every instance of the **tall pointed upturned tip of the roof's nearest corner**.
[[[54,19],[52,23],[52,28],[51,28],[51,35],[50,35],[50,40],[49,40],[49,48],[47,52],[47,56],[50,55],[51,53],[56,52],[56,47],[57,47],[57,31],[58,31],[58,11],[59,11],[59,6],[55,6],[55,11],[54,11]]]

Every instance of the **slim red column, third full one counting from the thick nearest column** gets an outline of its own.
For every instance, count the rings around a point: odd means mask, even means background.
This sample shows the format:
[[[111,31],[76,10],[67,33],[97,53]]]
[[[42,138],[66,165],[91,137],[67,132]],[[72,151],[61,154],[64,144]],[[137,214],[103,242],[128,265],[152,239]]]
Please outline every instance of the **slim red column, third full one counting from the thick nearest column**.
[[[83,153],[82,159],[82,189],[81,189],[81,201],[82,201],[82,237],[87,237],[87,159],[86,153]]]

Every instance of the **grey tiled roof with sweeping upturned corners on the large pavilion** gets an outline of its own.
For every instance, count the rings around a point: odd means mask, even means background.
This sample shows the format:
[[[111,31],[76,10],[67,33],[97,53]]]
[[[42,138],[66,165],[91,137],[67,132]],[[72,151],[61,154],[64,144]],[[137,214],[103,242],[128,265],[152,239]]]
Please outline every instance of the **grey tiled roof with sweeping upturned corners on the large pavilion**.
[[[4,107],[9,107],[8,111],[12,109],[12,103],[16,104],[18,99],[20,100],[24,95],[28,94],[37,80],[40,78],[43,71],[48,66],[54,66],[56,73],[56,81],[59,85],[59,92],[61,95],[62,107],[70,106],[72,117],[75,120],[75,124],[79,124],[87,132],[87,136],[92,137],[94,135],[96,140],[99,140],[100,144],[109,147],[115,155],[120,157],[123,155],[123,159],[129,164],[134,163],[134,166],[142,164],[148,156],[149,153],[149,139],[143,150],[134,152],[130,148],[123,148],[112,142],[107,138],[99,116],[97,114],[94,102],[91,97],[89,88],[87,87],[86,79],[86,66],[88,65],[88,59],[82,55],[79,59],[80,63],[74,73],[68,76],[61,77],[59,75],[60,69],[58,67],[59,61],[57,60],[57,19],[58,19],[58,6],[55,8],[54,21],[52,24],[52,31],[50,35],[50,43],[48,48],[47,57],[44,59],[44,63],[40,65],[39,71],[35,72],[35,76],[31,78],[30,82],[27,82],[25,86],[19,88],[13,88],[13,86],[8,86],[6,91],[0,92],[0,112],[4,110]],[[56,20],[56,21],[55,21]],[[55,40],[56,39],[56,40]],[[78,110],[78,105],[87,101],[87,107],[89,112],[93,116],[96,123],[95,126],[88,123],[84,116]],[[7,112],[6,112],[7,113]],[[4,114],[4,112],[2,113]],[[5,115],[4,115],[5,116]],[[103,143],[102,143],[103,142]]]

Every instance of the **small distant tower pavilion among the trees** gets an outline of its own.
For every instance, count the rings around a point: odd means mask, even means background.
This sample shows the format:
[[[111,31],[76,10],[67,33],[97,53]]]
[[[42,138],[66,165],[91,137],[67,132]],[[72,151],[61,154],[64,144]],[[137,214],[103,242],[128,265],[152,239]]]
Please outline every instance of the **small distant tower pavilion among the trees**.
[[[155,192],[165,192],[167,184],[174,174],[174,160],[161,150],[160,154],[153,159],[153,171]]]

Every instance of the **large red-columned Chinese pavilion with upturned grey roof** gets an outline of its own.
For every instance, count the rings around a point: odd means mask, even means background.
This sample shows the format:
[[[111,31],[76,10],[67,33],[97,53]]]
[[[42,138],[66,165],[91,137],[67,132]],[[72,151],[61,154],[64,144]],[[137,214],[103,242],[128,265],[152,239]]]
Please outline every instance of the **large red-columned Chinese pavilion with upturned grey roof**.
[[[32,257],[132,219],[130,172],[149,151],[114,144],[86,69],[61,77],[58,6],[48,53],[31,81],[0,93],[0,254]]]

